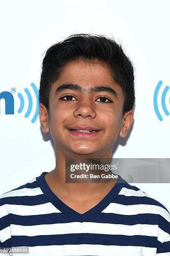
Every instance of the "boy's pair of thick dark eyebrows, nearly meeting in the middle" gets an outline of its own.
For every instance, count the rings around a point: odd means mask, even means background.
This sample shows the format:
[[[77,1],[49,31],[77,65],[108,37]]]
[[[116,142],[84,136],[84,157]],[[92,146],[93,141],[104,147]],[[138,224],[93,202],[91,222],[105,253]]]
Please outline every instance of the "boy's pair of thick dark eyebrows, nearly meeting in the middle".
[[[118,97],[117,92],[113,90],[110,86],[97,85],[87,89],[79,84],[61,84],[55,91],[55,95],[58,95],[60,92],[63,92],[64,90],[75,90],[79,92],[108,92],[116,99]]]

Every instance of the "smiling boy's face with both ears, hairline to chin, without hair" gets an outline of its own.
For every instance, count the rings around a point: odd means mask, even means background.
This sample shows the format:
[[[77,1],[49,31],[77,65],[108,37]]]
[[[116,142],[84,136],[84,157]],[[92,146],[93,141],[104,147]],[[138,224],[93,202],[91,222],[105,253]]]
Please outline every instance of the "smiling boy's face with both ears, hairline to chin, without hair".
[[[109,86],[115,90],[117,97],[104,91],[80,92],[70,89],[55,94],[62,84],[78,84],[86,90]],[[73,97],[65,97],[70,94]],[[104,96],[111,102],[103,100],[101,97]],[[61,97],[65,101],[60,100]],[[43,124],[44,132],[50,130],[55,148],[74,154],[97,156],[112,151],[117,136],[125,137],[132,124],[133,110],[122,117],[123,102],[122,89],[115,84],[107,67],[97,61],[70,62],[50,88],[49,113],[40,103],[40,123]],[[67,129],[77,125],[91,126],[101,131],[91,138],[81,138],[70,134]]]

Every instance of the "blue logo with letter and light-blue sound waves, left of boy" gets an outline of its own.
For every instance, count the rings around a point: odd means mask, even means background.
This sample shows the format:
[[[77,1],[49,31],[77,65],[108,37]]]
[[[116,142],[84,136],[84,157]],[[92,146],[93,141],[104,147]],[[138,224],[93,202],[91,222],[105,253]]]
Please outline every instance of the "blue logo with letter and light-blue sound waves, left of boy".
[[[32,120],[31,120],[31,123],[35,123],[35,121],[37,120],[37,117],[39,115],[39,92],[34,83],[31,83],[31,86],[35,92],[35,97],[36,97],[36,110],[35,110]],[[11,89],[11,92],[15,92],[15,91],[16,91],[16,89],[13,87]],[[30,91],[27,88],[25,88],[24,91],[28,97],[28,110],[25,113],[25,118],[28,118],[32,111],[32,96],[30,94]],[[14,115],[14,97],[11,92],[1,92],[0,93],[0,99],[2,99],[2,98],[5,99],[5,115]],[[20,99],[20,108],[18,109],[18,113],[21,113],[24,108],[24,97],[21,93],[18,93],[18,97]]]

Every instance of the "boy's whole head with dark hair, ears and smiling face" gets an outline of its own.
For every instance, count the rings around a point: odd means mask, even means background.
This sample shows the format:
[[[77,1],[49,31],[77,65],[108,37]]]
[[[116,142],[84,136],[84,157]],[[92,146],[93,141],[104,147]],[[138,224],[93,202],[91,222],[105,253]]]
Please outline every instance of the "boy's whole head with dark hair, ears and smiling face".
[[[110,38],[69,36],[45,54],[39,100],[42,130],[50,130],[55,145],[76,154],[107,152],[118,135],[126,136],[133,121],[133,65]],[[91,126],[100,133],[80,138],[68,131],[76,125]]]

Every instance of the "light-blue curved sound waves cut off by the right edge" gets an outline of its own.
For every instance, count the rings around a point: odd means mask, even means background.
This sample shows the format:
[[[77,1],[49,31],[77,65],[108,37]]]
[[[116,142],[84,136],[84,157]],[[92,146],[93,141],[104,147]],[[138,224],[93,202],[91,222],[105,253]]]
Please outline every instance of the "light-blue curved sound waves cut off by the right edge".
[[[158,92],[160,90],[160,87],[161,85],[163,84],[163,81],[159,81],[156,88],[155,88],[155,92],[154,92],[154,95],[153,95],[153,106],[154,106],[154,109],[155,109],[155,113],[158,117],[158,119],[160,121],[163,120],[163,117],[160,115],[160,111],[159,111],[159,108],[158,108]],[[163,111],[165,113],[165,115],[169,115],[169,111],[165,105],[165,97],[167,95],[167,92],[168,90],[170,89],[169,86],[166,86],[163,90],[163,93],[162,93],[162,96],[161,96],[161,105],[162,105],[162,108],[163,108]],[[170,100],[169,100],[169,103],[170,103]]]

